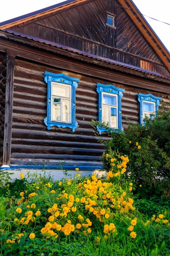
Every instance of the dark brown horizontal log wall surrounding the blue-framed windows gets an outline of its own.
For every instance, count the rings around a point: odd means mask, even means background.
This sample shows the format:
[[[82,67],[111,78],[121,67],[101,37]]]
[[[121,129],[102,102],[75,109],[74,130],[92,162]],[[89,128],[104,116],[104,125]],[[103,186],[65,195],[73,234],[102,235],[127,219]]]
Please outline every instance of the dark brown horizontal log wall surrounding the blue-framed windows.
[[[44,72],[64,73],[79,78],[76,88],[76,120],[79,127],[73,133],[69,128],[51,127],[44,124],[46,117],[47,84]],[[103,145],[90,125],[92,119],[98,120],[98,93],[96,83],[106,84],[106,80],[88,75],[68,72],[59,68],[46,67],[15,58],[13,126],[11,145],[11,164],[58,164],[59,161],[70,165],[99,165]],[[108,82],[110,84],[110,81]],[[124,88],[122,98],[122,125],[126,128],[126,118],[139,122],[138,92],[150,93],[147,89],[137,89],[120,83],[113,84]],[[158,92],[152,92],[159,96]]]

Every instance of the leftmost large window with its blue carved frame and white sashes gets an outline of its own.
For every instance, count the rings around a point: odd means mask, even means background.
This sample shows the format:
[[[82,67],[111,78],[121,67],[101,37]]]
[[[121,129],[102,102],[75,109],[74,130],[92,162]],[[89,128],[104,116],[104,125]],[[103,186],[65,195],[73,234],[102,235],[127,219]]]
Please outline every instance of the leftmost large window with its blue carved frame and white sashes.
[[[73,132],[78,124],[75,121],[75,89],[79,79],[64,74],[44,73],[47,83],[47,117],[44,123],[51,126],[71,128]]]

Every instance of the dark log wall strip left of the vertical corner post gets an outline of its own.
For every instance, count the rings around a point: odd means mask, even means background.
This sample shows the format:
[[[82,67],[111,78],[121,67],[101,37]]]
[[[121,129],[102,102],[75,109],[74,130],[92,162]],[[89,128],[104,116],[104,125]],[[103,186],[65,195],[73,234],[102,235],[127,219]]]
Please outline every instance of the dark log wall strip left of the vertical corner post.
[[[0,165],[2,165],[4,142],[4,109],[6,87],[6,56],[0,53]]]

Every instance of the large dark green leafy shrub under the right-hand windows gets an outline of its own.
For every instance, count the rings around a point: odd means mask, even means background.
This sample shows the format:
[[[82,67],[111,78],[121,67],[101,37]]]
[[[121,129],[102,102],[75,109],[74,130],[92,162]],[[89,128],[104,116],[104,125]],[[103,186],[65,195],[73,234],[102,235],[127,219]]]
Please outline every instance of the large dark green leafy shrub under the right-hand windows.
[[[106,124],[109,138],[101,141],[106,149],[102,156],[104,168],[110,168],[106,154],[128,155],[127,176],[137,185],[136,193],[142,196],[170,194],[169,106],[164,104],[158,114],[154,119],[145,119],[144,125],[128,123],[125,130],[110,130]],[[96,130],[100,126],[94,120],[91,124]]]

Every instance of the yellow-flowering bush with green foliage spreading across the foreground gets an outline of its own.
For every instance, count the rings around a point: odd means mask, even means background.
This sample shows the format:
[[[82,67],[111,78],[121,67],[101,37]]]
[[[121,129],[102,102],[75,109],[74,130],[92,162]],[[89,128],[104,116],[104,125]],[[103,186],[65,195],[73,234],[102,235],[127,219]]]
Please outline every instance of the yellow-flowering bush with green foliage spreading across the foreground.
[[[168,210],[144,221],[135,209],[134,185],[125,179],[128,157],[113,158],[108,153],[105,157],[110,164],[106,177],[100,173],[80,177],[77,173],[74,178],[52,182],[33,174],[32,183],[30,175],[28,182],[21,174],[25,188],[20,196],[1,195],[0,255],[117,256],[127,255],[127,248],[132,255],[137,250],[134,244],[148,245],[144,233],[152,238],[148,227],[154,225],[166,230],[166,252],[169,220],[164,216],[169,216]],[[157,240],[160,251],[164,240]],[[151,245],[150,252],[155,250]],[[141,255],[140,250],[137,253]]]

